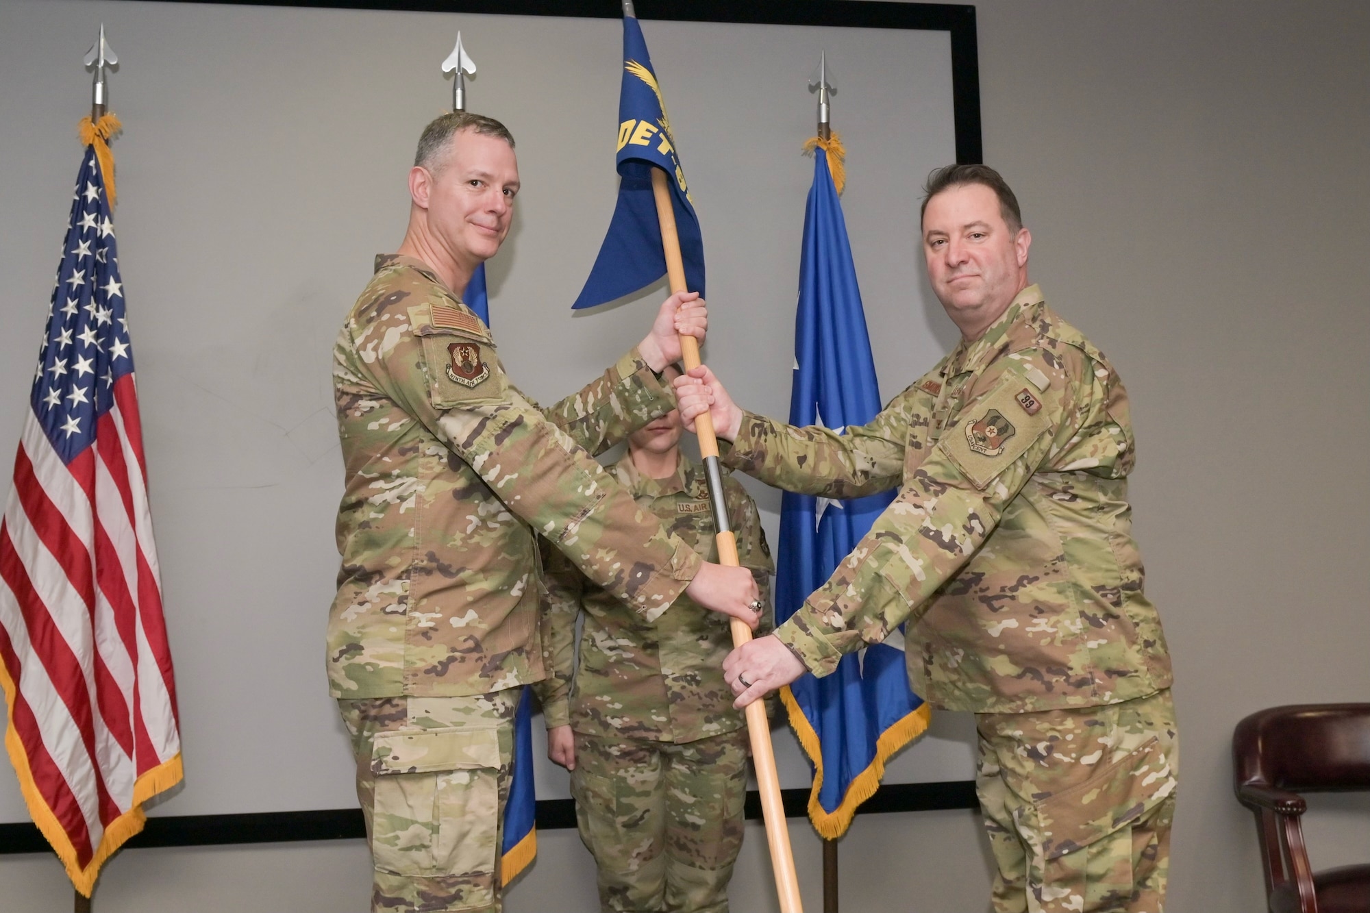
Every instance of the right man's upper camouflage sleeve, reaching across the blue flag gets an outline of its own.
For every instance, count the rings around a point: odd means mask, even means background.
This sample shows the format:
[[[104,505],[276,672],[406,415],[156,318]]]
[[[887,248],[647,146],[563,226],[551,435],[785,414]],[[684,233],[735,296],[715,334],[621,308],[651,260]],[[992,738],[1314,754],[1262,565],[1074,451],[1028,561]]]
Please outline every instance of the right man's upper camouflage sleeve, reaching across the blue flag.
[[[912,389],[912,388],[910,388]],[[767,485],[819,498],[863,498],[899,484],[908,436],[908,391],[866,425],[796,428],[744,410],[723,463]]]

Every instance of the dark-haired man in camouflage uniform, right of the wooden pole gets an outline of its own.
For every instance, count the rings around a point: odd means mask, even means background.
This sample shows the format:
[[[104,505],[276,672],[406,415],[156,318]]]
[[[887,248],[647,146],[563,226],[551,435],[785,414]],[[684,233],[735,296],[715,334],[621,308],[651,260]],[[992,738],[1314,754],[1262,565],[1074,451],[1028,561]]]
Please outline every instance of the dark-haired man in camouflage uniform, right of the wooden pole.
[[[977,714],[995,909],[1159,913],[1178,743],[1132,536],[1128,395],[1028,284],[1003,178],[958,165],[925,189],[927,276],[962,340],[869,425],[792,428],[704,370],[677,381],[686,421],[712,403],[730,466],[826,498],[899,487],[827,584],[729,655],[727,680],[743,706],[907,625],[914,690]]]

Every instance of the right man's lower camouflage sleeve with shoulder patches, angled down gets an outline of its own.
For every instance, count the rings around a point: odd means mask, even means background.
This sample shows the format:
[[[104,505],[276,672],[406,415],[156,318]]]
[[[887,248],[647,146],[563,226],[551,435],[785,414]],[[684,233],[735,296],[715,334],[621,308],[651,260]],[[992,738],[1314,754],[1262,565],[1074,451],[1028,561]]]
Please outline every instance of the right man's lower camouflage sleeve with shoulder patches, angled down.
[[[870,532],[775,629],[780,640],[825,676],[843,654],[922,617],[929,598],[980,548],[1004,506],[1048,459],[1054,441],[1073,436],[1077,398],[1055,354],[1030,350],[991,365]]]

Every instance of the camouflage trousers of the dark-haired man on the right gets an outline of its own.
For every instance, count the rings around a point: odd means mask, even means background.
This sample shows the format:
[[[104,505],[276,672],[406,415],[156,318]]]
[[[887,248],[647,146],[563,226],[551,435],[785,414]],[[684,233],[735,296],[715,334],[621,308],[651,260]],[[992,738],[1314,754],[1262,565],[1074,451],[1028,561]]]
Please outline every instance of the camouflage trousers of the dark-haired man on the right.
[[[1160,913],[1180,747],[1170,691],[975,724],[996,913]]]

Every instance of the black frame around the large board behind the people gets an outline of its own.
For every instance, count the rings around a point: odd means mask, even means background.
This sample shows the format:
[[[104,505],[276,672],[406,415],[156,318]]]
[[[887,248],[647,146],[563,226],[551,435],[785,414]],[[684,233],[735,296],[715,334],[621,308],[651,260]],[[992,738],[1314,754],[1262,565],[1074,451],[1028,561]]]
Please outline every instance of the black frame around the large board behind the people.
[[[525,16],[618,19],[621,0],[167,0],[247,7],[307,7],[330,10],[384,10],[408,12],[470,12]],[[984,145],[980,125],[980,51],[975,7],[949,3],[877,3],[870,0],[636,0],[644,21],[737,22],[755,25],[843,26],[863,29],[918,29],[947,32],[951,37],[952,118],[956,160],[980,163]],[[808,788],[782,790],[786,817],[804,817]],[[944,783],[886,783],[867,799],[858,814],[977,809],[973,780]],[[747,817],[760,818],[756,792],[747,795]],[[537,803],[537,827],[575,827],[571,799]],[[277,843],[364,838],[360,809],[266,812],[251,814],[195,814],[149,817],[144,831],[125,846],[216,846],[229,843]],[[42,853],[51,847],[37,825],[0,824],[0,855]]]

